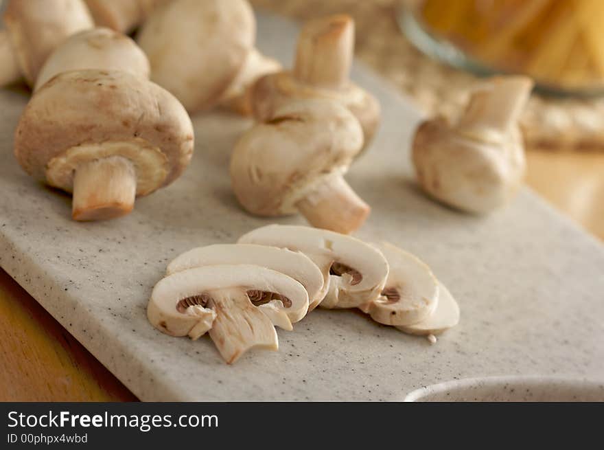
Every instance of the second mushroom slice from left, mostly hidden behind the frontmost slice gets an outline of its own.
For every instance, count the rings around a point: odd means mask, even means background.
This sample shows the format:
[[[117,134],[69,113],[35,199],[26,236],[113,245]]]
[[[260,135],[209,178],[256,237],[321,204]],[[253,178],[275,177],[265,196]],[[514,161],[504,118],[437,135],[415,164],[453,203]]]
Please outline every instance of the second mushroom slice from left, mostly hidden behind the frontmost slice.
[[[318,295],[323,290],[323,274],[305,254],[288,249],[253,244],[216,244],[197,247],[177,256],[167,266],[167,275],[211,265],[250,264],[272,269],[288,275],[302,284],[310,301],[321,301]],[[277,303],[272,300],[270,303]],[[279,302],[291,322],[299,322],[308,311],[308,303],[284,305]]]

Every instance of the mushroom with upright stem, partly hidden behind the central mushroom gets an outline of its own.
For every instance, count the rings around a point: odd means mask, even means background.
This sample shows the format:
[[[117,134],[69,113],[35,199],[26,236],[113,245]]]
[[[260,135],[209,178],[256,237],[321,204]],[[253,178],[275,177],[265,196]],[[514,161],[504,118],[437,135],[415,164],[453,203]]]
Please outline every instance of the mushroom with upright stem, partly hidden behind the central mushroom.
[[[298,39],[292,71],[260,78],[251,91],[258,120],[270,120],[292,99],[328,98],[346,106],[361,124],[369,145],[380,122],[380,103],[349,80],[354,51],[354,21],[346,14],[308,21]]]

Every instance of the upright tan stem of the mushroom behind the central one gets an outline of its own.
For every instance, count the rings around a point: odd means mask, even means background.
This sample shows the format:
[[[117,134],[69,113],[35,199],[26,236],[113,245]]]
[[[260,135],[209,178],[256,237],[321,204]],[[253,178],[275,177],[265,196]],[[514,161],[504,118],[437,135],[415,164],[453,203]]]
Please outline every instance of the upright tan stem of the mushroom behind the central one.
[[[309,21],[298,38],[294,77],[318,87],[340,87],[349,80],[354,52],[354,21],[346,14]]]

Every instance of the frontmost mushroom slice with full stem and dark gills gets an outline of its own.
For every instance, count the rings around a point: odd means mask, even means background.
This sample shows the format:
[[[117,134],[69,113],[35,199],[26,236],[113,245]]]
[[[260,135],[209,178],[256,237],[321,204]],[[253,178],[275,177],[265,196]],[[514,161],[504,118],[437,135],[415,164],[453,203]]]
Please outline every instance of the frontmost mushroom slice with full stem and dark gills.
[[[282,302],[308,302],[302,284],[265,267],[195,267],[172,273],[154,286],[147,316],[167,335],[197,339],[209,331],[224,361],[233,363],[250,348],[277,350],[275,327],[257,308],[273,296]],[[207,309],[216,314],[213,320]]]

